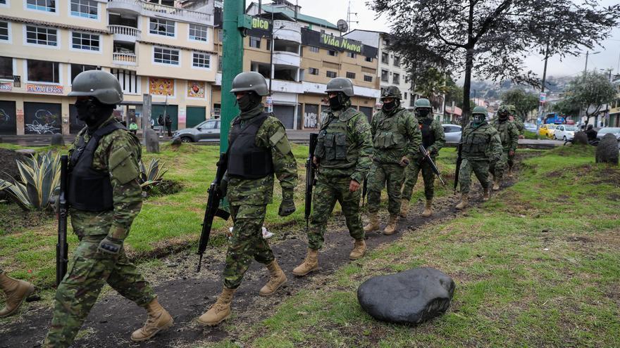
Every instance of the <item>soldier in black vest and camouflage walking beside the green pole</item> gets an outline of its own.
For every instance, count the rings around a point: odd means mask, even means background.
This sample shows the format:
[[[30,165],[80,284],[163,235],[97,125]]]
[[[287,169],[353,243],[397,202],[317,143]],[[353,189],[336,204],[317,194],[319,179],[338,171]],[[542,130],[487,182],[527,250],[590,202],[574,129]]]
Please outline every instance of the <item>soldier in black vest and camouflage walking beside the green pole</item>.
[[[258,72],[242,72],[233,79],[230,91],[237,97],[241,110],[230,127],[225,174],[226,195],[235,226],[226,254],[222,293],[209,311],[198,318],[204,326],[215,326],[230,316],[233,294],[252,259],[265,264],[270,275],[259,295],[273,295],[286,282],[262,235],[267,205],[273,201],[273,174],[282,187],[278,214],[286,217],[295,211],[297,162],[282,122],[263,110],[262,97],[268,95],[265,78]]]

